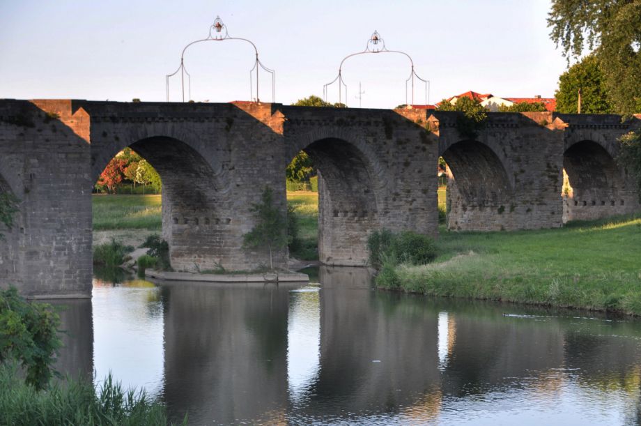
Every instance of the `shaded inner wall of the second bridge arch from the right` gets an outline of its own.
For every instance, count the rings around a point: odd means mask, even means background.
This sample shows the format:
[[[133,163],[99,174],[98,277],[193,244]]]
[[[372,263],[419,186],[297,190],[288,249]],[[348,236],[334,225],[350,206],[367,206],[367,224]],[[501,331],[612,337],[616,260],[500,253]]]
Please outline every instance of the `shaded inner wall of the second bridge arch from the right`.
[[[511,208],[513,185],[497,154],[486,144],[462,140],[442,157],[447,162],[448,229],[500,229],[495,218]]]

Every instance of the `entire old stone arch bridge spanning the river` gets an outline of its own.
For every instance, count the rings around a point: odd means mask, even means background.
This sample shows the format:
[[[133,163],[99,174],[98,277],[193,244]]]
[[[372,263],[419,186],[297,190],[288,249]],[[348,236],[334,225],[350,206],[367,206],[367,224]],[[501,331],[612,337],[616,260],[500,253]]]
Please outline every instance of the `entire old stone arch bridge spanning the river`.
[[[466,139],[457,114],[0,100],[0,192],[20,200],[14,226],[0,229],[0,284],[27,296],[91,295],[91,190],[126,146],[162,177],[162,234],[178,271],[264,264],[265,253],[242,249],[254,225],[249,207],[268,185],[286,210],[284,170],[300,150],[320,175],[325,264],[364,264],[372,229],[437,235],[440,155],[449,165],[450,229],[560,227],[639,210],[614,160],[617,137],[638,119],[489,113],[484,130]],[[286,257],[279,252],[277,264]]]

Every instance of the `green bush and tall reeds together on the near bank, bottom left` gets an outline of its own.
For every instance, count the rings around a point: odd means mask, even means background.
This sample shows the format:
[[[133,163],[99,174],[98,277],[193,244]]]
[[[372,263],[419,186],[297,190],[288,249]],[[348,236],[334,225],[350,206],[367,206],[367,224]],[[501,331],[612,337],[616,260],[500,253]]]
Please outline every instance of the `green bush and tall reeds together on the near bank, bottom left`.
[[[111,375],[97,389],[88,378],[54,380],[60,324],[50,305],[0,290],[0,424],[167,425],[164,404]]]

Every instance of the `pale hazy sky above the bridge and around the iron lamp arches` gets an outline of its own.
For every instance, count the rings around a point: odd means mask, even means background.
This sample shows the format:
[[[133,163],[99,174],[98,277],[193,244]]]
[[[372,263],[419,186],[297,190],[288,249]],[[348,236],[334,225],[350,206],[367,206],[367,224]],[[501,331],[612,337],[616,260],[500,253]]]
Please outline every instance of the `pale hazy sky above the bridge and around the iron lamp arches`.
[[[389,50],[412,56],[431,82],[431,102],[468,90],[497,96],[554,96],[566,68],[548,36],[548,0],[457,1],[32,1],[0,0],[0,98],[164,101],[165,75],[216,15],[249,38],[276,70],[276,101],[322,96],[341,59],[364,50],[376,29]],[[185,54],[196,101],[249,100],[252,47],[199,43]],[[405,103],[406,58],[368,54],[343,66],[347,103]],[[263,101],[270,79],[261,75]],[[172,79],[171,100],[180,100]],[[344,96],[344,95],[343,95]],[[338,100],[330,87],[328,100]],[[343,100],[344,102],[344,100]],[[417,84],[415,103],[424,103]]]

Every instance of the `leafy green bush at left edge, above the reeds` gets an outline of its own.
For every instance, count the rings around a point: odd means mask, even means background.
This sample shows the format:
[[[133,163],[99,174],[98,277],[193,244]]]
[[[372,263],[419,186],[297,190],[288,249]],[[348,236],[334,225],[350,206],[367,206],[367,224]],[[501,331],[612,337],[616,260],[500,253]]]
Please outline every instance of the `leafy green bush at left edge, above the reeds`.
[[[51,306],[28,303],[15,287],[0,290],[0,365],[8,360],[20,362],[26,371],[25,383],[45,388],[62,346],[59,326],[60,317]]]

